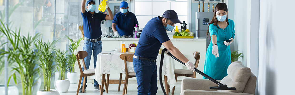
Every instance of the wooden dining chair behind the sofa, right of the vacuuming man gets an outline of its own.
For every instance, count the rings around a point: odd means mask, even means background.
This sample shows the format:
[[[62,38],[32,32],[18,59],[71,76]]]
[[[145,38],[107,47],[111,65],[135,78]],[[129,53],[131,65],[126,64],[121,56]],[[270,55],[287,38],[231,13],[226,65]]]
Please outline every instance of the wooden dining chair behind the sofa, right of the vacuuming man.
[[[200,52],[195,51],[193,54],[193,57],[194,59],[196,59],[195,67],[198,68],[198,64],[200,61]],[[196,78],[196,72],[192,72],[191,70],[174,69],[174,75],[175,75],[175,81],[177,81],[178,76],[187,76],[187,77]],[[175,90],[175,86],[172,89],[172,95],[174,94],[174,90]]]

